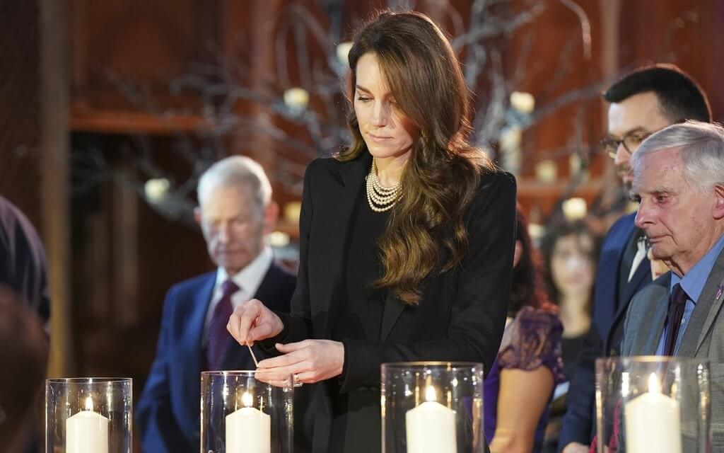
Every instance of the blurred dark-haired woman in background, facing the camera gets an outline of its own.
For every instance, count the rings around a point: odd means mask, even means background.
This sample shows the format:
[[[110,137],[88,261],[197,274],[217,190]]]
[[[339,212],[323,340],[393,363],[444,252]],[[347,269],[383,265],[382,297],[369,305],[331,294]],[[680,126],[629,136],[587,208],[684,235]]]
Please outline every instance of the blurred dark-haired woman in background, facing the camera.
[[[576,358],[591,327],[597,240],[582,220],[549,225],[541,252],[548,294],[563,323],[563,374],[571,381]]]

